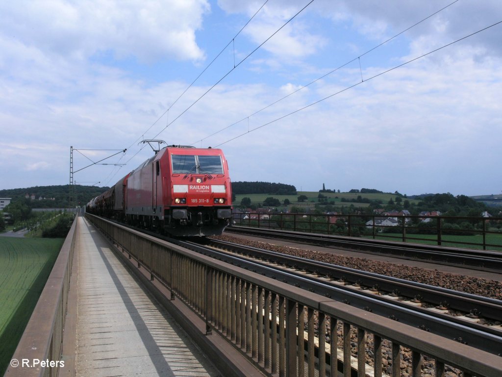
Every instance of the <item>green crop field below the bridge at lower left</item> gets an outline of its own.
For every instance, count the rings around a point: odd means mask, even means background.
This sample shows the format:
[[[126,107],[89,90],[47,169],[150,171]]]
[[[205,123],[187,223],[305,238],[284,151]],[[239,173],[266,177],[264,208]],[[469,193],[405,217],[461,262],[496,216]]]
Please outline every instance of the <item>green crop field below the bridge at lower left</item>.
[[[0,237],[0,375],[3,375],[63,245],[61,238]]]

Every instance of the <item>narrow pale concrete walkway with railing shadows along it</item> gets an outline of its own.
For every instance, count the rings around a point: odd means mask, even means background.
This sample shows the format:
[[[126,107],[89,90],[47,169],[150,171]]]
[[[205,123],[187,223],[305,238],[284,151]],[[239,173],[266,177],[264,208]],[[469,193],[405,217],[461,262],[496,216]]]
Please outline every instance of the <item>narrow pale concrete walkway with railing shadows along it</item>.
[[[76,375],[221,375],[101,235],[78,221]]]

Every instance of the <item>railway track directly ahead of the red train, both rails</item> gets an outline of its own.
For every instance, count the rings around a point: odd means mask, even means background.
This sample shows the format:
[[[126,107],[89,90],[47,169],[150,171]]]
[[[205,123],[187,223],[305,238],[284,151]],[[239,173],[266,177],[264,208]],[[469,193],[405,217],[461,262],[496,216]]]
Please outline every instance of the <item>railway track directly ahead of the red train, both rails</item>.
[[[169,241],[221,260],[222,262],[286,282],[298,287],[298,289],[308,290],[335,301],[392,318],[401,323],[445,338],[454,339],[486,352],[500,354],[502,328],[500,326],[482,325],[477,323],[478,320],[476,318],[470,318],[477,317],[481,311],[492,313],[490,316],[499,318],[500,313],[502,313],[502,302],[499,300],[420,285],[406,280],[388,278],[384,275],[355,270],[349,271],[350,269],[346,268],[341,268],[341,270],[336,272],[337,266],[313,262],[308,259],[302,260],[302,258],[298,257],[280,255],[279,253],[228,242],[211,240],[211,245],[201,245],[200,241],[187,242],[173,239],[169,239]],[[221,250],[221,247],[227,250]],[[232,249],[232,251],[228,249]],[[235,253],[240,255],[236,255]],[[315,268],[315,270],[311,271],[312,268]],[[324,272],[327,272],[327,274],[324,274]],[[351,276],[357,278],[355,285],[346,285],[349,272],[353,273]],[[337,278],[336,273],[343,273],[345,280]],[[362,284],[362,281],[378,282],[379,289],[374,287],[373,290],[364,289],[371,286]],[[400,295],[393,297],[392,295],[382,294],[384,292],[382,287],[398,287],[396,289],[399,289],[400,293],[405,291],[412,292],[412,294],[416,293],[414,296],[421,296],[421,298],[420,300],[413,298],[402,301],[398,299],[402,297]],[[455,296],[459,297],[453,300]],[[422,307],[421,303],[425,301],[424,297],[435,301],[440,300],[440,303],[443,302],[443,304],[450,300],[450,306],[463,307],[464,310],[465,308],[474,307],[477,311],[467,316],[454,317],[446,314],[446,307],[440,307],[439,309],[435,307]]]

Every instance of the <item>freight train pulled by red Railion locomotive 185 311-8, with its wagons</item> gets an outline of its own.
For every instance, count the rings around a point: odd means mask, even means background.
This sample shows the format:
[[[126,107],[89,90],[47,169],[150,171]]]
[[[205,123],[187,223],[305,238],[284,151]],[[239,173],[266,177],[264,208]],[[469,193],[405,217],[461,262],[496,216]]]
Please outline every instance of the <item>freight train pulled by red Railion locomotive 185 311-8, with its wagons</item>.
[[[86,212],[172,236],[221,234],[232,216],[228,163],[221,149],[164,147]]]

